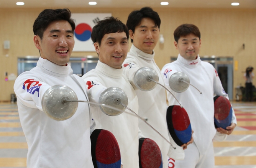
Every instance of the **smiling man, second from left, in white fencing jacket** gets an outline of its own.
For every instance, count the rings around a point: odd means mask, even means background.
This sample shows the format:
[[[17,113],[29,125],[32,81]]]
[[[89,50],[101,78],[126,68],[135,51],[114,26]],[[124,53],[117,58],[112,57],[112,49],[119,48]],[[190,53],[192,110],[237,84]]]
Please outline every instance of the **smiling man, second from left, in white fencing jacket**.
[[[99,101],[100,94],[109,87],[124,90],[128,107],[138,113],[138,98],[128,79],[123,75],[122,63],[128,52],[129,32],[124,23],[114,17],[98,22],[93,27],[91,39],[99,61],[95,69],[87,72],[84,79],[89,100]],[[91,107],[96,129],[114,134],[120,147],[121,161],[126,168],[139,168],[138,118],[126,112],[117,116],[104,114],[98,106]]]

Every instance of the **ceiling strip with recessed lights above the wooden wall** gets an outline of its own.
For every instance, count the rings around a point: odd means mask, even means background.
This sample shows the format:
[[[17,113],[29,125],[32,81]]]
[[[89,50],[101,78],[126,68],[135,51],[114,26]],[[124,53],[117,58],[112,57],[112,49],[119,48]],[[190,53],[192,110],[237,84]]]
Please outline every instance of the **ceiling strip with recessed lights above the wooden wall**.
[[[88,2],[97,2],[89,5]],[[160,2],[169,5],[160,5]],[[24,2],[18,6],[16,2]],[[239,2],[239,6],[231,6],[232,2]],[[256,0],[0,0],[0,8],[94,8],[94,7],[132,7],[144,6],[171,8],[255,8]]]

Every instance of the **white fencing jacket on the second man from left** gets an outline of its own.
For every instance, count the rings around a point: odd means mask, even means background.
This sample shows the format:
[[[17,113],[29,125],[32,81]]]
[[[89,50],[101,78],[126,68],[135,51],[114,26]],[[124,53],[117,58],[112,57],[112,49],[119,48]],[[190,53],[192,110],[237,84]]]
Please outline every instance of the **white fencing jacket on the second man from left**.
[[[123,75],[123,68],[115,69],[98,61],[95,69],[82,76],[86,83],[89,100],[98,102],[100,94],[109,87],[123,89],[128,97],[128,106],[138,114],[138,98],[128,79]],[[104,114],[98,106],[92,107],[91,113],[95,120],[95,129],[105,129],[112,132],[118,142],[121,161],[124,167],[139,168],[139,138],[138,117],[129,110],[120,115]]]

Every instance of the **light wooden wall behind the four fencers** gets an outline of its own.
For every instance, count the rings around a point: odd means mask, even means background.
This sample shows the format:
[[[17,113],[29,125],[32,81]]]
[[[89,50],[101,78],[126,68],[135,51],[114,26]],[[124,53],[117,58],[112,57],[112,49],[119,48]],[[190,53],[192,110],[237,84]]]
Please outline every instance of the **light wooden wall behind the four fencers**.
[[[138,8],[70,8],[73,13],[112,13],[126,23],[128,14]],[[17,74],[17,58],[39,55],[33,44],[32,25],[43,9],[0,8],[0,100],[10,100],[13,81],[4,81],[4,73]],[[255,9],[174,9],[154,8],[161,18],[160,34],[165,43],[155,48],[155,61],[161,69],[177,56],[173,45],[173,31],[183,23],[197,25],[201,32],[200,55],[232,56],[238,61],[234,70],[234,88],[244,86],[243,73],[247,66],[256,68],[256,10]],[[3,49],[3,41],[10,40],[10,50]],[[245,49],[243,49],[243,43]],[[131,45],[131,43],[129,44]],[[6,57],[8,55],[8,57]],[[97,55],[96,52],[73,52],[72,56]],[[256,84],[256,80],[254,79]]]

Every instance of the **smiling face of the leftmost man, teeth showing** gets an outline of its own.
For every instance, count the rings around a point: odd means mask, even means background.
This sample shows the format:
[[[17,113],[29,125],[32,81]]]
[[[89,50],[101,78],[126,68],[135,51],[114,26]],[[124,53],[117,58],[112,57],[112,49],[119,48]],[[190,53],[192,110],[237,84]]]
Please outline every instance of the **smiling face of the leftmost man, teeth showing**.
[[[75,43],[69,22],[54,21],[48,25],[41,37],[40,35],[34,36],[34,43],[40,51],[41,58],[66,66]]]

